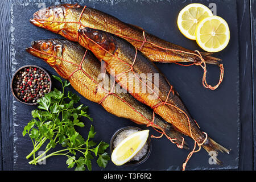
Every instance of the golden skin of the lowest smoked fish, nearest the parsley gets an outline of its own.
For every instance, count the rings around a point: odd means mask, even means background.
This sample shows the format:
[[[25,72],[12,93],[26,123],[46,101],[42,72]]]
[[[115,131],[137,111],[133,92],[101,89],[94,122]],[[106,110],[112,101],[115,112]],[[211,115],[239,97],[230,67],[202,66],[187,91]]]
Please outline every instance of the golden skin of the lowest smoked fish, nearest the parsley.
[[[53,56],[35,51],[35,49]],[[61,77],[69,80],[73,88],[88,100],[99,103],[108,95],[110,86],[109,88],[105,88],[107,90],[104,90],[97,84],[102,81],[98,78],[101,65],[90,51],[86,52],[84,62],[82,63],[82,70],[84,72],[81,70],[76,71],[85,53],[85,49],[78,44],[61,39],[40,40],[33,42],[31,48],[27,48],[27,52],[46,61]],[[61,59],[56,59],[54,56],[60,57]],[[69,63],[62,59],[68,60]],[[87,73],[88,76],[86,76],[85,73]],[[119,98],[110,94],[101,102],[101,105],[109,113],[117,115],[118,117],[131,119],[139,125],[148,125],[149,121],[152,121],[152,110],[148,109],[147,106],[135,100],[129,93],[125,93],[125,90],[123,90],[123,93],[115,94]],[[131,109],[128,104],[133,106],[133,109]],[[136,111],[134,111],[134,109]],[[164,130],[171,138],[177,138],[175,142],[181,144],[183,140],[181,134],[178,133],[170,123],[164,121],[158,115],[155,115],[154,123],[158,125],[156,126],[157,129]],[[186,144],[184,148],[187,148]]]

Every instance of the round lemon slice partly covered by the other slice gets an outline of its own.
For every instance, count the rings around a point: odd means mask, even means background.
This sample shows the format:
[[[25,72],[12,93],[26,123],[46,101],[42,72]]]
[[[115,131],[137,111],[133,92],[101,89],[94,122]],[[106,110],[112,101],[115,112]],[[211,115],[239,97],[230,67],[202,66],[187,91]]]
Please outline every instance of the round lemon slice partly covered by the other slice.
[[[186,38],[196,40],[195,32],[197,24],[208,16],[213,16],[213,14],[207,6],[199,3],[192,3],[185,6],[180,11],[177,18],[177,26]]]

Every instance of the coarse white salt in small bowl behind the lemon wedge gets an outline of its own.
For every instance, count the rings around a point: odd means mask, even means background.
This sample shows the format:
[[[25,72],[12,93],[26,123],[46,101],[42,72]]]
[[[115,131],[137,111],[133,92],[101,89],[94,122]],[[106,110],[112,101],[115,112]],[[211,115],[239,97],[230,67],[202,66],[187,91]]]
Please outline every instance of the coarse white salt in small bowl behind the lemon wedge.
[[[121,133],[119,133],[117,135],[117,137],[115,137],[113,145],[114,148],[118,146],[118,144],[120,142],[122,142],[123,139],[129,137],[131,134],[138,132],[139,130],[136,129],[128,129],[128,130],[123,130]],[[144,146],[142,147],[142,149],[131,159],[131,160],[140,160],[144,155],[147,154],[147,148],[148,148],[148,144],[147,142],[144,144]],[[129,161],[131,161],[129,160]]]

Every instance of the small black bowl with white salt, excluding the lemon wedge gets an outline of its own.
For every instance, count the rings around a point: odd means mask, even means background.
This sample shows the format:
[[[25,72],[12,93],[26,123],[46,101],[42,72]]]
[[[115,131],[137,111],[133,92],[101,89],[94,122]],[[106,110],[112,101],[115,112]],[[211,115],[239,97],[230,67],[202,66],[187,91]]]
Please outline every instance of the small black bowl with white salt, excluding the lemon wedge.
[[[139,127],[127,126],[117,130],[110,140],[110,152],[114,151],[114,148],[118,146],[123,139],[129,137],[131,134],[142,131]],[[123,166],[138,166],[144,163],[151,153],[151,140],[150,137],[147,138],[147,142],[144,144],[142,149],[131,159],[129,162],[123,164]]]

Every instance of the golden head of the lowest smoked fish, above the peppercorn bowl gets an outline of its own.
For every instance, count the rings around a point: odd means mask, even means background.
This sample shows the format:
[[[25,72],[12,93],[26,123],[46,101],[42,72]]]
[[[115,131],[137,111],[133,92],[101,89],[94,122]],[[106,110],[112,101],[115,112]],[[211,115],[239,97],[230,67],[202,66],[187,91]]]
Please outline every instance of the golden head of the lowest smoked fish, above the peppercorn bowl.
[[[59,75],[68,79],[72,73],[72,64],[63,59],[65,48],[63,44],[56,39],[38,40],[31,44],[26,51],[33,56],[39,57],[48,63]]]

